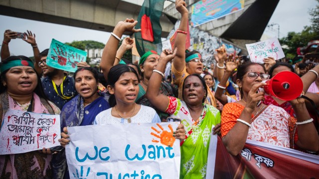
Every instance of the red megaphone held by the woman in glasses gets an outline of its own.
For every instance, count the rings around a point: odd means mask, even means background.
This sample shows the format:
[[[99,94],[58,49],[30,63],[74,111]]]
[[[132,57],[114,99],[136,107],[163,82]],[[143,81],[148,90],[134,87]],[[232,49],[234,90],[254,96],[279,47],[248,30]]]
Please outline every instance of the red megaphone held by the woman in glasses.
[[[304,84],[301,78],[293,72],[280,72],[265,82],[264,90],[281,100],[296,99],[303,92]]]

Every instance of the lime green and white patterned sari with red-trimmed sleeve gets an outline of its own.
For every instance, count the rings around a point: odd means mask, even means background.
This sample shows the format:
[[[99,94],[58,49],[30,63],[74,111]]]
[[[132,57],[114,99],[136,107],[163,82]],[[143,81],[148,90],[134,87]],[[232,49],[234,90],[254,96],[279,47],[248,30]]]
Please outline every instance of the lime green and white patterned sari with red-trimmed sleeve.
[[[169,105],[165,112],[171,117],[181,119],[186,130],[186,139],[180,153],[180,179],[206,178],[207,157],[212,127],[220,123],[220,113],[215,107],[203,104],[200,117],[191,119],[189,110],[184,101],[168,97]]]

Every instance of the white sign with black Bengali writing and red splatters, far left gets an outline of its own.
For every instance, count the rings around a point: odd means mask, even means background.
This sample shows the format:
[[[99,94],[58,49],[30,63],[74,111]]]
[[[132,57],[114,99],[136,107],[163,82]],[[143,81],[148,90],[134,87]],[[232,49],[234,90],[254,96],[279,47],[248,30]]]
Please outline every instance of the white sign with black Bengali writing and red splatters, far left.
[[[9,109],[0,129],[0,155],[59,146],[60,116]]]

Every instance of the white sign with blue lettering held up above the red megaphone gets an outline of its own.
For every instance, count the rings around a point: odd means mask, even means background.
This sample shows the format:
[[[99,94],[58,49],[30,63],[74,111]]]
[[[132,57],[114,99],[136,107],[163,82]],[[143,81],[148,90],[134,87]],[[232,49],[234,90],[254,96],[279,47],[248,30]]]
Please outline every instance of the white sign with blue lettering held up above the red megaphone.
[[[277,38],[271,38],[265,41],[256,42],[253,44],[246,44],[250,60],[255,63],[264,63],[264,58],[274,57],[279,60],[285,57],[283,49]]]

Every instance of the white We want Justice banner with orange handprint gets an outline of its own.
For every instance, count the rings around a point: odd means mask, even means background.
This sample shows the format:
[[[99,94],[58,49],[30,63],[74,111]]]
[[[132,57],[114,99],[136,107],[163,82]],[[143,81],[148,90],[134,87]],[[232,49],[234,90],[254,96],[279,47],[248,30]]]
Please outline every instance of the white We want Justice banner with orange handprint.
[[[68,127],[69,174],[87,179],[178,179],[177,122]]]

